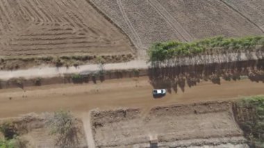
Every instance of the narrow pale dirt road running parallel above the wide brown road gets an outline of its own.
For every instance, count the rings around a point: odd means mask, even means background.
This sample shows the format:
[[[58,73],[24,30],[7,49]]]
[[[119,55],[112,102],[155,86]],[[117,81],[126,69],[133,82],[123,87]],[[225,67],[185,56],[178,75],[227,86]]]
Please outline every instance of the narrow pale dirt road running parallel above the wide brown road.
[[[205,65],[210,63],[231,63],[246,60],[261,60],[264,58],[264,52],[251,52],[248,53],[229,53],[226,55],[204,55],[204,56],[193,56],[168,60],[161,66],[167,66],[166,63],[173,63],[170,66],[179,65]],[[147,63],[146,60],[131,60],[127,63],[107,63],[104,65],[105,70],[115,70],[115,69],[147,69],[151,67],[151,63]],[[35,67],[31,69],[19,69],[19,70],[0,70],[0,79],[8,80],[12,78],[23,77],[25,79],[32,79],[38,77],[56,77],[63,76],[63,74],[74,74],[81,73],[87,74],[92,71],[98,71],[99,66],[94,65],[81,65],[79,67]]]

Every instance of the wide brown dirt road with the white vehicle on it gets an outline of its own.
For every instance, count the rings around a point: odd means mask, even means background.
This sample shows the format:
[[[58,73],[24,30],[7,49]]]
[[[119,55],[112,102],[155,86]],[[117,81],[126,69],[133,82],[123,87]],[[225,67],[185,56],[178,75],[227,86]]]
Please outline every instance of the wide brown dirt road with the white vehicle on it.
[[[67,108],[76,113],[92,108],[142,107],[167,104],[188,104],[197,101],[232,99],[263,94],[264,83],[222,81],[221,85],[201,82],[185,92],[168,93],[163,99],[154,99],[153,87],[147,77],[115,79],[104,83],[85,85],[44,85],[41,87],[0,90],[0,117]]]

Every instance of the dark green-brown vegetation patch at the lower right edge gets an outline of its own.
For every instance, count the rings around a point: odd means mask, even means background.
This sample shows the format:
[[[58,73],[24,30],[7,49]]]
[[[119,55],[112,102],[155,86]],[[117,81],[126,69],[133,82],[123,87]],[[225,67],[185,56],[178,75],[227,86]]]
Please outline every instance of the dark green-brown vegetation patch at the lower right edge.
[[[236,120],[251,147],[264,147],[264,96],[246,97],[236,104]]]

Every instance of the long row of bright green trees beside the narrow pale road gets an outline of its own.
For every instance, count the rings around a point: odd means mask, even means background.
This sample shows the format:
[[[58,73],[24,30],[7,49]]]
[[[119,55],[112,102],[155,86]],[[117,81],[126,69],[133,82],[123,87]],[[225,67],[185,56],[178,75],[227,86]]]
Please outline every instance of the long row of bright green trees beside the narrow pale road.
[[[264,36],[245,38],[224,38],[222,36],[197,40],[195,42],[156,42],[149,48],[150,61],[163,61],[183,56],[195,56],[207,53],[223,53],[226,51],[253,50],[260,45],[264,48]]]

